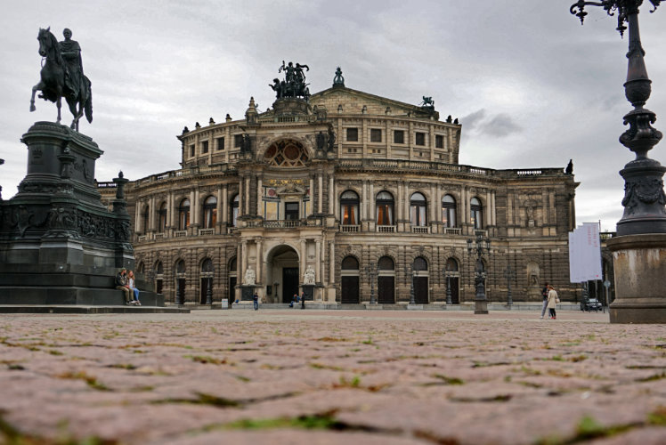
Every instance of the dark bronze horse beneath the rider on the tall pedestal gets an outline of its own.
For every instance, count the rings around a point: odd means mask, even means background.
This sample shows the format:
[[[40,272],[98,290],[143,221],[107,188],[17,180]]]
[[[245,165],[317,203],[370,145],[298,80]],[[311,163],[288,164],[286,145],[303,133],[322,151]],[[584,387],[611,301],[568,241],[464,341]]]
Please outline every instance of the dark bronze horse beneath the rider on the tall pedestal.
[[[90,87],[90,80],[83,77],[84,85],[77,93],[71,91],[65,82],[65,76],[69,76],[67,63],[62,59],[60,45],[55,36],[51,33],[51,28],[39,28],[37,41],[39,42],[39,55],[45,58],[42,61],[42,70],[39,73],[41,80],[32,87],[32,98],[30,99],[30,111],[35,111],[35,93],[41,91],[38,97],[45,101],[55,102],[58,107],[58,120],[61,122],[61,99],[64,97],[69,105],[69,111],[74,116],[74,120],[69,127],[78,131],[78,120],[84,115],[88,122],[93,122],[93,92]]]

